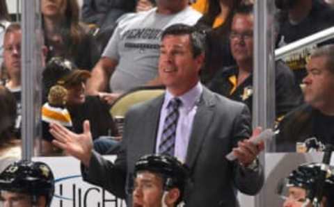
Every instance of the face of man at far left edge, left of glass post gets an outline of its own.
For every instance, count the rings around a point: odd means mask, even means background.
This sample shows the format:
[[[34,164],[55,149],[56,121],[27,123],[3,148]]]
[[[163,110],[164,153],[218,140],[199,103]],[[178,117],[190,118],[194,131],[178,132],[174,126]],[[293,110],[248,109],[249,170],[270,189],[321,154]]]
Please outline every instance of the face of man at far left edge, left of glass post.
[[[21,76],[21,30],[5,35],[3,41],[3,62],[10,77]]]

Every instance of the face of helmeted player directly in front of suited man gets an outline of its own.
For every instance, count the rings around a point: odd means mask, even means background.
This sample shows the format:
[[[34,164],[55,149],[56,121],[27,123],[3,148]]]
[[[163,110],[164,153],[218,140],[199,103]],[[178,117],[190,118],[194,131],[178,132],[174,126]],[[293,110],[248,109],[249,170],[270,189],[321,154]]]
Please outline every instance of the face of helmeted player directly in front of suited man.
[[[134,207],[161,207],[163,179],[148,171],[139,172],[134,180]]]

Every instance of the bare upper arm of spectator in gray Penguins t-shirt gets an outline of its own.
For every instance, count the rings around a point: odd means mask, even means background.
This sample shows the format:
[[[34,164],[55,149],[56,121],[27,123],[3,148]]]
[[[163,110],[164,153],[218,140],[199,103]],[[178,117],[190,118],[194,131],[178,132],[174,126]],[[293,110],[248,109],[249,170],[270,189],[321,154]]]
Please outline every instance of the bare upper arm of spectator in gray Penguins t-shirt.
[[[111,77],[111,74],[113,74],[116,65],[118,65],[117,60],[102,57],[93,68],[92,76],[87,81],[86,93],[90,95],[98,95],[99,92],[106,91],[109,78]]]

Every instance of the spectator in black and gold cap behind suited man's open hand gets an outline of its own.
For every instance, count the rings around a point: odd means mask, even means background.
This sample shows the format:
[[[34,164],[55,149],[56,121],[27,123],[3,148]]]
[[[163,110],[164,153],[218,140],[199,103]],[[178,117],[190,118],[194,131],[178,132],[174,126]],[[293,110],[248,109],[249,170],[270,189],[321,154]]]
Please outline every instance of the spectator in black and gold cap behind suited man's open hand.
[[[86,96],[86,80],[90,72],[78,69],[69,60],[52,58],[42,73],[46,94],[53,85],[62,85],[67,90],[66,104],[72,122],[72,131],[82,133],[84,120],[91,123],[91,134],[94,139],[105,135],[118,135],[116,125],[109,113],[109,106],[96,96]],[[58,117],[58,116],[57,116]],[[68,116],[67,116],[68,118]],[[70,122],[67,119],[67,125]],[[48,135],[49,124],[44,124],[42,141],[43,154],[50,154],[54,147],[53,137]]]

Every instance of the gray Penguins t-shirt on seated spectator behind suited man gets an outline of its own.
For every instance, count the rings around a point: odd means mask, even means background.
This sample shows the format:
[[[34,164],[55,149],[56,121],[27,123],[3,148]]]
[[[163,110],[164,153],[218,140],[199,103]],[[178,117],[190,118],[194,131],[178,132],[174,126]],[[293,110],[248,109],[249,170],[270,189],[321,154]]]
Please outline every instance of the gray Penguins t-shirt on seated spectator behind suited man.
[[[126,92],[157,76],[161,33],[173,24],[196,24],[201,14],[190,7],[174,15],[161,15],[157,8],[123,15],[102,53],[118,61],[109,84],[112,92]]]

